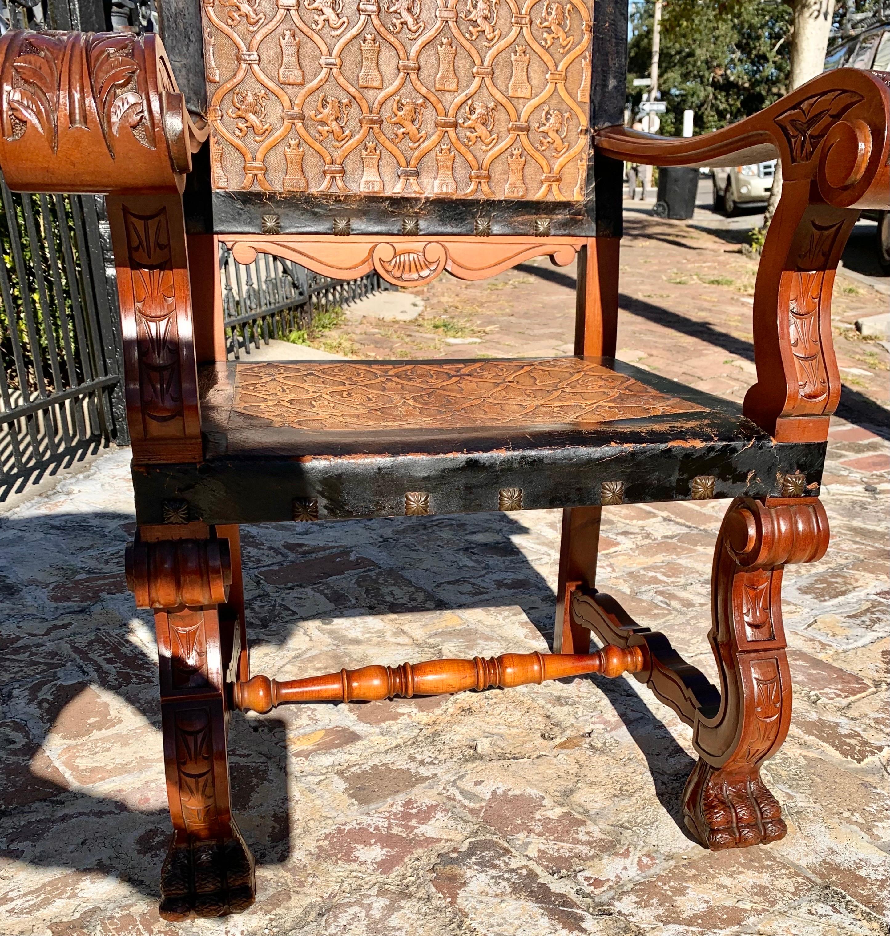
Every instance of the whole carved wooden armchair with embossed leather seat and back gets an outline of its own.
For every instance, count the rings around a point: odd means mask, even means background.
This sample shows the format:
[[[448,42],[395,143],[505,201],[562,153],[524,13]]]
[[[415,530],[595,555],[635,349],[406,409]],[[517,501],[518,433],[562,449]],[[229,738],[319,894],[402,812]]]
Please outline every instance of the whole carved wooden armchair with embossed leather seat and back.
[[[226,725],[282,702],[633,672],[693,727],[698,840],[785,834],[759,773],[791,718],[782,567],[828,543],[831,290],[859,210],[888,203],[890,76],[841,69],[718,133],[649,137],[618,125],[626,4],[587,3],[165,0],[169,59],[152,36],[0,38],[9,186],[109,196],[139,523],[127,578],[157,626],[175,830],[168,919],[253,902]],[[744,405],[617,361],[620,160],[776,156]],[[394,285],[577,256],[576,354],[226,362],[220,241]],[[732,499],[712,571],[719,689],[594,586],[604,506],[706,498]],[[240,523],[540,507],[563,510],[553,654],[250,678]]]

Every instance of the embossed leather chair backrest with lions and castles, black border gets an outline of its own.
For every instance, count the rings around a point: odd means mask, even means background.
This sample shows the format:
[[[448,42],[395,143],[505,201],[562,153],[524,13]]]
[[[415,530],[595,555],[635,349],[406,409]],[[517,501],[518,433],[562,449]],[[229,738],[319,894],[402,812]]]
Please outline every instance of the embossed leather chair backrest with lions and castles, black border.
[[[173,22],[181,5],[163,7],[177,73],[176,30],[188,28]],[[616,105],[623,105],[620,7],[620,0],[202,0],[206,97],[197,106],[211,124],[212,192],[255,193],[237,198],[242,208],[256,196],[268,203],[263,193],[289,197],[303,206],[306,218],[295,222],[303,231],[330,233],[346,204],[361,209],[348,212],[354,233],[393,233],[393,214],[431,198],[422,211],[438,218],[430,233],[472,234],[467,219],[489,206],[491,233],[533,233],[534,218],[554,217],[566,220],[552,233],[591,234],[591,124],[620,122]],[[192,74],[181,83],[197,97],[196,26],[192,11]],[[603,88],[606,114],[592,100]],[[442,209],[449,201],[474,207],[456,215]],[[388,224],[362,227],[363,215],[381,208]]]

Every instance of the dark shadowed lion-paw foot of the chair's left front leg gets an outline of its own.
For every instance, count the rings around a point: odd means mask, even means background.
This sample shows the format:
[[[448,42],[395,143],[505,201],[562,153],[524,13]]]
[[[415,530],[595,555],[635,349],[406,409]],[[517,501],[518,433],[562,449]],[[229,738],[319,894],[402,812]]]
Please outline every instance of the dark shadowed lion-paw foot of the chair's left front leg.
[[[161,870],[159,912],[166,920],[239,914],[255,899],[254,856],[232,824],[226,838],[174,834]]]

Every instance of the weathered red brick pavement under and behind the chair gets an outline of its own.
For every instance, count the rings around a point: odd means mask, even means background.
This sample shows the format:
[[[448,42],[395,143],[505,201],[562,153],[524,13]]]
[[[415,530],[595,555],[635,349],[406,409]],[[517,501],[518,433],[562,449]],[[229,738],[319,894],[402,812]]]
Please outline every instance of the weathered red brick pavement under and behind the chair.
[[[629,216],[620,354],[740,398],[753,264],[722,246]],[[350,337],[387,357],[565,353],[571,277],[530,266],[489,285],[443,279],[425,296],[425,325],[375,322]],[[839,323],[883,311],[885,297],[845,285]],[[857,422],[837,419],[831,433],[831,548],[786,572],[795,714],[764,769],[785,840],[712,854],[686,838],[690,730],[633,679],[284,707],[232,723],[255,907],[163,923],[153,627],[124,587],[134,527],[128,452],[116,450],[0,522],[0,933],[890,931],[888,356],[848,329],[836,339]],[[724,509],[608,508],[601,560],[603,587],[711,679],[708,569]],[[559,521],[530,511],[244,528],[255,671],[544,651]]]

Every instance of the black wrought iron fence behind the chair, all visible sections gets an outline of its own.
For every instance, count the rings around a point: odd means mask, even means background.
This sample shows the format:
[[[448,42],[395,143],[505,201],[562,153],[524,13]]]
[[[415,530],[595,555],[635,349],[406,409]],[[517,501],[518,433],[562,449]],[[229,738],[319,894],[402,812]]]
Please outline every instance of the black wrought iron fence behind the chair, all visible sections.
[[[156,31],[153,0],[0,0],[7,29]],[[115,272],[102,197],[13,195],[0,176],[0,500],[95,447],[129,442]],[[265,255],[221,256],[229,356],[389,288]]]

